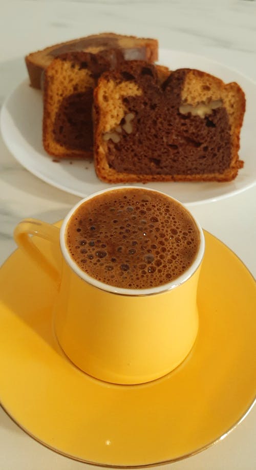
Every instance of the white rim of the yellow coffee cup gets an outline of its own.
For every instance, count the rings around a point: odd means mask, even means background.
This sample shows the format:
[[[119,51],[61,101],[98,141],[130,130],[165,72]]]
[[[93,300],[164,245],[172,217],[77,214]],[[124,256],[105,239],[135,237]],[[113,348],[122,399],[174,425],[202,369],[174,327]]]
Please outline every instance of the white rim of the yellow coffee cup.
[[[186,269],[186,271],[181,274],[179,277],[174,279],[173,281],[162,284],[160,286],[156,287],[151,287],[147,289],[125,289],[121,287],[116,287],[112,286],[110,284],[105,284],[103,282],[97,281],[94,279],[94,277],[91,277],[89,274],[84,272],[82,269],[80,269],[75,261],[71,258],[71,255],[69,254],[69,251],[66,247],[65,243],[65,235],[66,235],[66,228],[67,224],[70,220],[70,218],[73,216],[74,212],[78,209],[80,205],[82,205],[84,202],[89,201],[90,199],[93,199],[94,197],[97,197],[101,194],[108,193],[109,191],[116,191],[119,189],[143,189],[144,191],[152,191],[153,193],[158,193],[166,196],[169,199],[172,199],[173,201],[177,202],[178,204],[181,205],[181,207],[186,210],[190,216],[193,218],[194,222],[196,223],[196,226],[199,231],[199,237],[200,237],[200,243],[199,243],[199,249],[197,252],[196,259],[194,262],[189,266],[189,268]],[[62,255],[65,258],[67,264],[70,266],[70,268],[83,280],[86,281],[88,284],[91,284],[94,287],[97,287],[100,290],[104,290],[106,292],[111,292],[114,294],[121,294],[121,295],[129,295],[129,296],[139,296],[139,295],[153,295],[153,294],[160,294],[162,292],[174,289],[175,287],[183,284],[186,282],[189,277],[191,277],[194,272],[198,269],[200,266],[203,255],[204,255],[204,248],[205,248],[205,242],[204,242],[204,234],[201,226],[199,225],[198,221],[195,219],[195,217],[191,214],[189,210],[177,199],[173,198],[172,196],[168,196],[167,194],[163,193],[162,191],[159,191],[157,189],[152,189],[152,188],[145,188],[143,186],[113,186],[111,188],[106,188],[102,189],[100,191],[97,191],[97,193],[93,193],[90,196],[87,196],[84,199],[81,199],[67,214],[65,219],[63,220],[63,223],[60,228],[60,248],[62,251]]]

